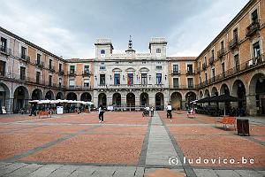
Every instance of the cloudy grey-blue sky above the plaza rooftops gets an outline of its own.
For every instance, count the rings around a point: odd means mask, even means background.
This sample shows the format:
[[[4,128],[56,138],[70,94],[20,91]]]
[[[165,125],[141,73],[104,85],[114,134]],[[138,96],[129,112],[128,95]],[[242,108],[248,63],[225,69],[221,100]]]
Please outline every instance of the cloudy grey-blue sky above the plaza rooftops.
[[[148,52],[165,37],[168,56],[198,56],[248,0],[0,0],[0,26],[64,58],[95,58],[95,39],[114,52]]]

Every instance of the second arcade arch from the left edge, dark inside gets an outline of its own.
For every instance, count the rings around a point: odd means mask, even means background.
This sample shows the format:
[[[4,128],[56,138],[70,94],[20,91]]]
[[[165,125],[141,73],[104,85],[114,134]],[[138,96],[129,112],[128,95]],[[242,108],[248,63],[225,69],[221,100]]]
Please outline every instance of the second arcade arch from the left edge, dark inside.
[[[28,109],[29,93],[27,88],[19,86],[14,91],[13,112],[17,113],[21,108]]]

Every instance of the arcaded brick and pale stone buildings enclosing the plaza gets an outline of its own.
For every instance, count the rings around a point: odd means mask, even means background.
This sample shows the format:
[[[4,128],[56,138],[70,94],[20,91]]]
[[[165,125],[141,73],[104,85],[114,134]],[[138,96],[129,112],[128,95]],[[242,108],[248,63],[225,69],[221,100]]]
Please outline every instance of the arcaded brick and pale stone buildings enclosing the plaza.
[[[167,57],[164,38],[149,51],[112,53],[110,39],[95,41],[95,58],[64,59],[0,27],[0,106],[7,112],[32,99],[92,101],[95,106],[185,109],[195,99],[227,94],[230,106],[265,114],[265,1],[252,0],[199,57]],[[224,104],[219,104],[222,109]]]

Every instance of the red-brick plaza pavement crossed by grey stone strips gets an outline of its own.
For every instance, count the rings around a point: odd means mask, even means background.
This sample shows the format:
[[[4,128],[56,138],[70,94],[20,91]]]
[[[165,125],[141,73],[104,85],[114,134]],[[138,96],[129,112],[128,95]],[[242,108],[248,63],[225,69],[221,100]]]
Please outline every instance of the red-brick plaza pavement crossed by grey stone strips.
[[[213,117],[187,119],[186,112],[173,112],[171,120],[165,112],[153,118],[106,112],[104,123],[95,112],[48,119],[4,115],[0,176],[265,176],[265,119],[248,119],[251,136],[216,127]],[[254,164],[196,164],[200,157],[254,158]]]

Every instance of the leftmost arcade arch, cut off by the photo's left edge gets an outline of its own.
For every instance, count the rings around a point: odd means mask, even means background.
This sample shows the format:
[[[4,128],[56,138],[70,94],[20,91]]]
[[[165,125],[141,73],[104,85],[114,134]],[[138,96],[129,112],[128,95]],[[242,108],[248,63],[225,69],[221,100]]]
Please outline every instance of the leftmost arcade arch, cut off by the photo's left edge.
[[[6,112],[11,112],[11,93],[4,83],[0,83],[0,108],[5,107]],[[2,112],[2,109],[0,110]]]

